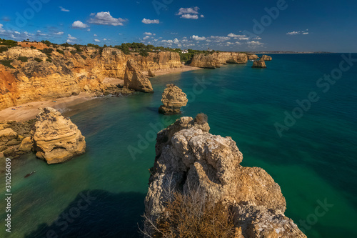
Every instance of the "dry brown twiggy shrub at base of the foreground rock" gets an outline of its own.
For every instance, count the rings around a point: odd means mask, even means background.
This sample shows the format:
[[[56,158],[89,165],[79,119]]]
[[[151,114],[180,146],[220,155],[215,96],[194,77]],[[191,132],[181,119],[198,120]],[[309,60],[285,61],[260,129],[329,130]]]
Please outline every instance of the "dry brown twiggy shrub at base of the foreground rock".
[[[166,193],[166,192],[165,192]],[[169,195],[169,196],[168,196]],[[233,212],[215,202],[206,191],[193,187],[186,192],[164,194],[165,212],[156,220],[144,215],[148,237],[234,237]]]

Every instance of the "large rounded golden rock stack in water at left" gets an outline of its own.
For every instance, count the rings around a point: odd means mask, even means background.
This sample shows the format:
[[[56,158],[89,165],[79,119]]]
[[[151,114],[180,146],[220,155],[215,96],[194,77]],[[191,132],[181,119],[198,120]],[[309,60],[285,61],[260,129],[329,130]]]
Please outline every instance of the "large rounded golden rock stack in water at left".
[[[32,136],[36,157],[57,164],[85,152],[84,136],[70,119],[51,107],[40,110]]]

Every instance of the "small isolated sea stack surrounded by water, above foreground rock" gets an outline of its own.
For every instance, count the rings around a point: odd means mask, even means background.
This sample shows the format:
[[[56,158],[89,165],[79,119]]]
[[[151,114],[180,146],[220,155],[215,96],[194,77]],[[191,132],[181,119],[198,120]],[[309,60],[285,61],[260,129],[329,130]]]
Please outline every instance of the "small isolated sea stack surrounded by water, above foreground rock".
[[[186,94],[175,84],[166,84],[166,89],[162,94],[162,103],[159,112],[162,114],[180,114],[181,106],[186,106]]]

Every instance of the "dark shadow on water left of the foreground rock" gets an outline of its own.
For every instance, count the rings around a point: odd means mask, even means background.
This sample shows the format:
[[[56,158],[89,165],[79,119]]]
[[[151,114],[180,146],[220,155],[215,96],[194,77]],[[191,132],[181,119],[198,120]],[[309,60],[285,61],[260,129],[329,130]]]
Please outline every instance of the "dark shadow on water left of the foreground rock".
[[[142,237],[145,194],[85,190],[64,209],[52,224],[39,224],[25,238]]]

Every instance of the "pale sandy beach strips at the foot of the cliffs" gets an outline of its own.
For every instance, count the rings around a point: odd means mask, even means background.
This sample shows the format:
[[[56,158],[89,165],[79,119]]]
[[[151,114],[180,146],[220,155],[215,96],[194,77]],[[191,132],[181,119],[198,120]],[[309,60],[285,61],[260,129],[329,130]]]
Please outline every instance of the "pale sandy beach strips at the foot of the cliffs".
[[[160,69],[158,71],[155,71],[155,74],[156,76],[161,76],[165,74],[174,74],[183,71],[191,71],[197,69],[201,69],[201,68],[192,67],[192,66],[183,66],[182,68]],[[118,79],[116,81],[122,82],[123,80]],[[111,79],[111,83],[113,83],[113,79]],[[34,119],[36,115],[39,114],[40,107],[50,106],[59,111],[64,111],[69,106],[75,106],[77,104],[83,103],[84,101],[95,99],[96,98],[95,95],[96,94],[93,93],[89,94],[86,92],[81,92],[79,95],[76,96],[51,99],[47,101],[31,101],[26,104],[11,106],[0,111],[0,122],[5,122],[5,121],[25,122],[30,119]]]

